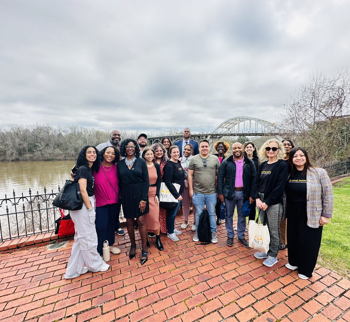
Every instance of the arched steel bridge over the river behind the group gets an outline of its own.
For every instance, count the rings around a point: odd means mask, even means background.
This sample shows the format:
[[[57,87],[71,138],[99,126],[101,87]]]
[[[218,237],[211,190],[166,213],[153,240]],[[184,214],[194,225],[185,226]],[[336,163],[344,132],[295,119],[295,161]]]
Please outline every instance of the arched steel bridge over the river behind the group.
[[[275,135],[279,134],[273,123],[262,119],[256,119],[246,116],[236,116],[227,119],[214,131],[209,133],[191,133],[191,138],[199,141],[201,139],[220,139],[222,137],[237,137],[237,136],[263,136],[263,135]],[[181,140],[181,134],[168,135],[172,142]],[[162,137],[148,138],[149,144],[159,142]]]

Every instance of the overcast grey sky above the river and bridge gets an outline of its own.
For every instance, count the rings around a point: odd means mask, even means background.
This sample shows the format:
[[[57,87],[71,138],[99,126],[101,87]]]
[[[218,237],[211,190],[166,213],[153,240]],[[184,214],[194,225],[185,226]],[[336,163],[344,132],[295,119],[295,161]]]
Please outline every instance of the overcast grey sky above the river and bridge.
[[[350,57],[350,1],[1,1],[0,127],[274,122]]]

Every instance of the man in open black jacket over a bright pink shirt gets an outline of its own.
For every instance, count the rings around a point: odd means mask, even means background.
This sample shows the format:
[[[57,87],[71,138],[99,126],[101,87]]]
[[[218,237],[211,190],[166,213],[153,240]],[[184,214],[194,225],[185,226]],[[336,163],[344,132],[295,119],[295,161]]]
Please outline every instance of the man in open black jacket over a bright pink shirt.
[[[225,202],[225,227],[227,230],[226,244],[233,245],[233,212],[237,204],[237,236],[244,247],[249,247],[244,237],[246,218],[242,215],[243,203],[254,202],[255,177],[257,171],[254,162],[243,155],[243,145],[235,142],[232,145],[232,155],[221,162],[217,175],[217,193],[219,199]]]

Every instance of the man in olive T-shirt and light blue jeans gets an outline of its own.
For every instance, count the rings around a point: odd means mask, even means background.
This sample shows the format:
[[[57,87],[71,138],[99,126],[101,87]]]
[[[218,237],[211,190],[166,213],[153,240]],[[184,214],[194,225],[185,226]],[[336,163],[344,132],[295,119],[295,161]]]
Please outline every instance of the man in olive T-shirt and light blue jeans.
[[[198,223],[207,205],[210,220],[211,242],[217,243],[216,237],[216,175],[220,167],[217,156],[209,154],[209,141],[199,142],[199,154],[192,157],[188,165],[188,186],[192,202],[196,206],[196,232],[193,241],[198,241]]]

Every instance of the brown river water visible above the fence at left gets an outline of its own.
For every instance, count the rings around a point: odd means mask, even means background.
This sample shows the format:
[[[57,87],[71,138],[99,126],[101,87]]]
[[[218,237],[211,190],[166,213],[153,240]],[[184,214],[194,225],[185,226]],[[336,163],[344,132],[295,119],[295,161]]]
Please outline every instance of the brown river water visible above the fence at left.
[[[29,188],[33,194],[38,191],[58,191],[66,179],[70,178],[70,169],[74,161],[16,161],[0,162],[0,199],[28,194]]]

